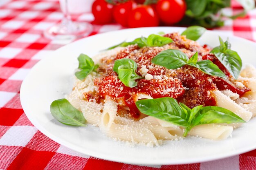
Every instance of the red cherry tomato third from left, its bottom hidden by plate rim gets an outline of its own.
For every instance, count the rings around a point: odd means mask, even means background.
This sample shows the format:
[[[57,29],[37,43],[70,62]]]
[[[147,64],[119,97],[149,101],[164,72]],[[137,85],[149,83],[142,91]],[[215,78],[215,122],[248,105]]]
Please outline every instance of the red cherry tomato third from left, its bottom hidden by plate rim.
[[[158,26],[159,18],[155,9],[148,5],[139,5],[133,9],[128,18],[130,28]]]

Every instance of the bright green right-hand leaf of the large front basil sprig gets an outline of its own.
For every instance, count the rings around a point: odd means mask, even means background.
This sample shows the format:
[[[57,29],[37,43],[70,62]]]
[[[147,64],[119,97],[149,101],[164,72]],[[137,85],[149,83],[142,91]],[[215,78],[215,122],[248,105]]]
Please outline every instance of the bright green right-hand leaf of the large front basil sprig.
[[[245,121],[235,113],[218,106],[206,106],[201,108],[198,117],[195,118],[193,126],[200,124],[231,124],[245,123]]]

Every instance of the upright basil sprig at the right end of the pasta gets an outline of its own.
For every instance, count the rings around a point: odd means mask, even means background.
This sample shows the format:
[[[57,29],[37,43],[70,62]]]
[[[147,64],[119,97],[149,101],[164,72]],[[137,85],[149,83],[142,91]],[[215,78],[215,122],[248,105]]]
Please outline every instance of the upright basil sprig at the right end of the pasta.
[[[220,46],[213,48],[211,53],[213,53],[225,68],[227,68],[229,73],[237,79],[242,68],[242,60],[236,51],[230,49],[231,45],[228,40],[224,42],[220,37],[219,40]]]

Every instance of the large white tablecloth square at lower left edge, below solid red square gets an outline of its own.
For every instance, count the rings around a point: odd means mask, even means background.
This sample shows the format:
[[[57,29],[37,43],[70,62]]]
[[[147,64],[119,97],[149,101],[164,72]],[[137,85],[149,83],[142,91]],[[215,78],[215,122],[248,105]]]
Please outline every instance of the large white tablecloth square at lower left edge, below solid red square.
[[[0,145],[24,147],[35,135],[36,131],[37,129],[34,126],[11,126],[1,137]]]

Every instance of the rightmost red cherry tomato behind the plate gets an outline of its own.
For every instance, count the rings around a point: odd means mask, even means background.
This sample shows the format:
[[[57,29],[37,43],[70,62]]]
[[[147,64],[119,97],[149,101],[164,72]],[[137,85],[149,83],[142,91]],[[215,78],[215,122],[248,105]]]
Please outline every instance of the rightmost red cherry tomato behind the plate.
[[[186,3],[184,0],[159,0],[156,5],[159,19],[165,24],[175,24],[185,15]]]

